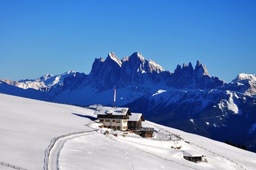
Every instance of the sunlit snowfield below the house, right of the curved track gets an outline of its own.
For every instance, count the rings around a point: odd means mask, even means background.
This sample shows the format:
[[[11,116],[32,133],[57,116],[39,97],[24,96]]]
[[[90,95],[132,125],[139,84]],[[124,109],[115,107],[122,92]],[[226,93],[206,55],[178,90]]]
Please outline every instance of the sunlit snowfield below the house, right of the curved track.
[[[147,122],[152,124],[151,122]],[[148,125],[149,126],[149,125]],[[167,128],[169,130],[174,130]],[[175,131],[175,130],[174,130]],[[198,135],[175,131],[191,142],[197,142],[219,155],[243,165],[256,168],[256,154]],[[172,149],[179,147],[180,150]],[[208,163],[188,162],[183,151],[205,155]],[[65,142],[59,156],[60,169],[242,169],[221,156],[214,155],[184,141],[153,141],[133,137],[90,134]]]

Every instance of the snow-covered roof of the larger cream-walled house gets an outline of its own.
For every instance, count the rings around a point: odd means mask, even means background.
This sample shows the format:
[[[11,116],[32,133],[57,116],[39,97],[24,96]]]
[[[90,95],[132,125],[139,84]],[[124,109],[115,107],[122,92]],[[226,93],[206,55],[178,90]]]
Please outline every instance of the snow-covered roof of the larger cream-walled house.
[[[129,110],[129,108],[97,107],[94,114],[126,115],[128,110]],[[129,116],[130,116],[130,114],[129,114]]]

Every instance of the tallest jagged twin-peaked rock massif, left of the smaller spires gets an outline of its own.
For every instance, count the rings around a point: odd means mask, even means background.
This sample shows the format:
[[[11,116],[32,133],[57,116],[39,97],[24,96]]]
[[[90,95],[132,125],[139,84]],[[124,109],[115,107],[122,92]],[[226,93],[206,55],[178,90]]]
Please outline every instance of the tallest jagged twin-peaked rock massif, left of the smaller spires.
[[[103,58],[95,59],[86,82],[98,91],[104,91],[114,86],[140,86],[148,81],[158,83],[169,74],[163,67],[145,59],[139,52],[123,58],[122,61],[114,53],[109,53],[106,61]]]

